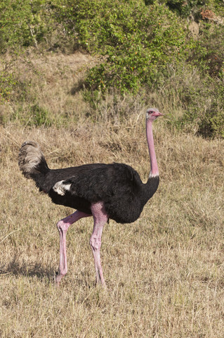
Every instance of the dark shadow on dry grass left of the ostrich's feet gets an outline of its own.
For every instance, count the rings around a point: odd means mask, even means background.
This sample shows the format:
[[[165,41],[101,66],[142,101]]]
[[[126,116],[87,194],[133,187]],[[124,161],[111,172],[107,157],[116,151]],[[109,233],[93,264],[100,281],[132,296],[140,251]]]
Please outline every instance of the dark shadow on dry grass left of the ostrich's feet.
[[[25,262],[19,259],[18,253],[7,264],[0,266],[0,275],[14,275],[26,277],[38,277],[39,279],[47,278],[49,281],[55,278],[55,269],[53,265],[43,265],[41,262]]]

